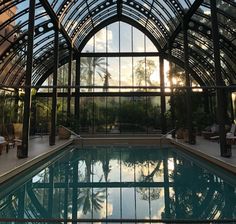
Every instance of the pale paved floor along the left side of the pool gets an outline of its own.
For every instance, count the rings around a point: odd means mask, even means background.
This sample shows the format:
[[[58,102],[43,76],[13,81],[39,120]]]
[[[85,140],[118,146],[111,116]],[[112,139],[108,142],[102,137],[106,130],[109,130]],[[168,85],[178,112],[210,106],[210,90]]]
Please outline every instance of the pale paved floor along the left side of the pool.
[[[17,158],[16,147],[9,149],[8,153],[3,150],[2,155],[0,155],[0,183],[3,179],[5,180],[5,176],[8,175],[8,173],[10,173],[13,169],[18,168],[22,164],[29,163],[39,155],[50,152],[53,149],[67,144],[67,142],[68,140],[57,139],[56,144],[54,146],[49,146],[48,136],[32,138],[29,140],[28,158],[25,159]]]

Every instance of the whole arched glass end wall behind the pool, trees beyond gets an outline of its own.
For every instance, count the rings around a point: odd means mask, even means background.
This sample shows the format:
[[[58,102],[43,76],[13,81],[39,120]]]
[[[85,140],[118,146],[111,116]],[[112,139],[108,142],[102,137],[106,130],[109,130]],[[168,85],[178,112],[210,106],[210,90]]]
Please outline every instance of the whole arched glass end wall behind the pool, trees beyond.
[[[164,60],[163,66],[166,110],[162,116],[166,118],[167,130],[171,130],[173,122],[170,113],[170,62]],[[87,42],[80,57],[78,96],[75,96],[74,58],[71,82],[73,99],[69,118],[68,90],[64,88],[68,84],[68,67],[68,64],[64,64],[58,70],[58,125],[67,125],[70,120],[72,129],[89,134],[161,133],[160,55],[152,42],[135,27],[116,22],[98,31]],[[172,63],[172,73],[173,85],[183,87],[184,69]],[[52,86],[52,76],[49,76],[44,85]],[[198,83],[192,81],[192,85],[197,86]],[[184,99],[184,89],[172,90]],[[41,88],[39,92],[47,92],[49,97],[52,89]],[[75,99],[79,104],[78,114],[75,114]],[[37,119],[43,120],[40,123],[44,124],[50,121],[51,102],[46,101],[42,104],[47,104],[47,116],[40,118],[45,113],[41,112],[40,108],[37,108],[36,113]],[[202,108],[202,103],[200,107]],[[47,122],[44,122],[45,119]]]

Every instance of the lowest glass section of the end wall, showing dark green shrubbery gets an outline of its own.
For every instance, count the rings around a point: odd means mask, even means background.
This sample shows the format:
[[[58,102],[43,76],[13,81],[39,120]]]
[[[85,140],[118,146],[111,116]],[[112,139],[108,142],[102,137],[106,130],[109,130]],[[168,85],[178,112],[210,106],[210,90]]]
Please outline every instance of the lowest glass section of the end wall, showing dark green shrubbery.
[[[81,97],[80,132],[160,133],[160,97]]]

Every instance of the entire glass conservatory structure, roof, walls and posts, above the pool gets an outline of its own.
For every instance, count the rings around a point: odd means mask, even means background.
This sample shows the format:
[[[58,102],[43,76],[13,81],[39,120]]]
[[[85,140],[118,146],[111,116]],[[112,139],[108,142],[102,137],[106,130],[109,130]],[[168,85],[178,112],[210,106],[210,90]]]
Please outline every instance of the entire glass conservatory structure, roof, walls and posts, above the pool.
[[[125,135],[217,130],[236,105],[235,0],[1,0],[0,125]],[[210,128],[210,129],[209,129]]]

